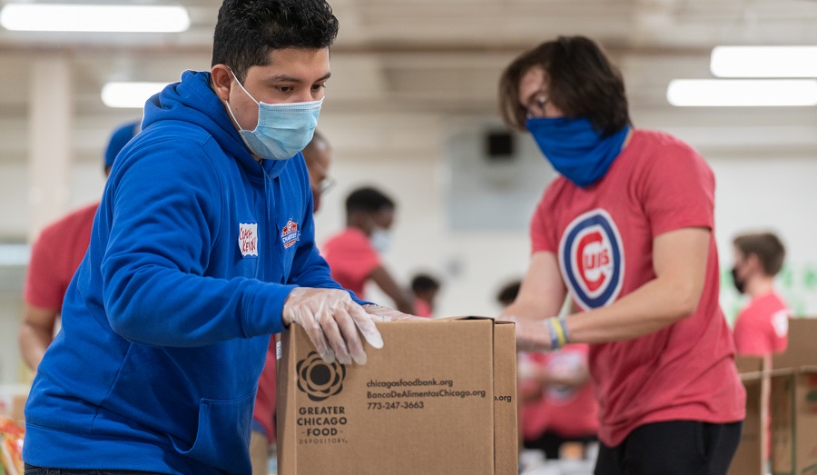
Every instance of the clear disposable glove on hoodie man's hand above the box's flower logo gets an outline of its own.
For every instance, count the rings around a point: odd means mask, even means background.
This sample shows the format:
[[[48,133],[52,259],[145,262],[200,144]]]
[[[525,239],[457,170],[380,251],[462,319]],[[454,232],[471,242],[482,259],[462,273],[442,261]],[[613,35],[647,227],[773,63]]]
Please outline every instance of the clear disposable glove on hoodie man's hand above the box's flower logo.
[[[284,302],[281,313],[285,325],[297,323],[306,331],[320,357],[327,362],[366,362],[366,351],[358,331],[375,348],[383,348],[369,313],[338,289],[296,287]]]

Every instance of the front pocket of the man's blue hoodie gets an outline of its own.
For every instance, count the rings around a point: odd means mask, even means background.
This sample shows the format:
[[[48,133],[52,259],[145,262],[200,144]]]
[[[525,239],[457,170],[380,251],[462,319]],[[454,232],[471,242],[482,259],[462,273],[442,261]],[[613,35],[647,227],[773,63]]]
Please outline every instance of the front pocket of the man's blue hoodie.
[[[250,473],[250,421],[255,393],[239,400],[199,402],[199,427],[192,447],[172,439],[173,448],[202,463],[229,473]]]

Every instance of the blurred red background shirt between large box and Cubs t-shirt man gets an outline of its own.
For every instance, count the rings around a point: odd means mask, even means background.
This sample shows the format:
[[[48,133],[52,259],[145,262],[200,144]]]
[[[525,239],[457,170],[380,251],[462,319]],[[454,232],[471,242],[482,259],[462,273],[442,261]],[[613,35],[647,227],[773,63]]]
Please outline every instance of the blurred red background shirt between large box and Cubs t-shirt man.
[[[550,353],[520,353],[519,365],[534,364],[550,373],[574,373],[587,364],[586,344],[568,344]],[[520,378],[520,386],[539,384]],[[522,405],[520,422],[525,440],[536,440],[546,431],[562,437],[596,435],[598,404],[593,384],[587,381],[576,389],[549,386],[537,401]]]

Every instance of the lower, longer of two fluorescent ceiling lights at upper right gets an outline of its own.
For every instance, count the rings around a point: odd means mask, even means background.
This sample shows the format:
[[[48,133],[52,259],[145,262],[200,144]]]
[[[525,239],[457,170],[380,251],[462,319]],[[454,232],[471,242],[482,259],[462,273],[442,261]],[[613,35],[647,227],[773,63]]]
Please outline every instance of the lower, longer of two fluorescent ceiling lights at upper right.
[[[817,105],[817,80],[674,79],[666,100],[679,106]]]

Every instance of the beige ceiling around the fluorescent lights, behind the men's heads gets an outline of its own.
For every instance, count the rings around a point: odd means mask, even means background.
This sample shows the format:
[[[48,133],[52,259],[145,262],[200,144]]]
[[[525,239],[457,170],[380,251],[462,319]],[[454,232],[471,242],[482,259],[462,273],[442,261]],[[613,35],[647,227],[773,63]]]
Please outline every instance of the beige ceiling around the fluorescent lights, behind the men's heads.
[[[9,0],[0,1],[0,5]],[[149,1],[149,0],[148,0]],[[135,2],[133,2],[135,3]],[[25,160],[32,61],[68,58],[78,146],[133,111],[103,105],[110,80],[176,80],[184,69],[208,69],[221,2],[178,0],[192,27],[182,34],[19,33],[0,28],[0,161]],[[802,124],[813,108],[744,114],[672,109],[674,77],[711,77],[714,45],[815,45],[817,0],[333,0],[340,35],[325,114],[492,114],[497,78],[521,51],[556,35],[595,38],[620,65],[634,115],[664,114],[679,126],[728,114]],[[805,110],[803,110],[805,109]],[[805,118],[805,119],[804,119]],[[782,121],[782,122],[781,122]],[[811,119],[814,124],[814,119]],[[99,129],[99,132],[94,132]],[[92,140],[93,139],[93,140]]]

